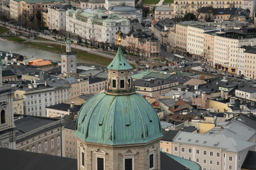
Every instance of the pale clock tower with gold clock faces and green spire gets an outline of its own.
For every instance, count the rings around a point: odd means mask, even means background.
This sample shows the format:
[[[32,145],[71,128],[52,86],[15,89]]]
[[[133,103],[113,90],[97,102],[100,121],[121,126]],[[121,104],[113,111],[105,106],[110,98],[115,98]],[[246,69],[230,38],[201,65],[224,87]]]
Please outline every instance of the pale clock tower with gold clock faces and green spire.
[[[76,51],[71,50],[71,41],[69,35],[66,41],[66,51],[61,51],[61,73],[70,72],[76,73]]]

